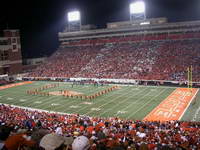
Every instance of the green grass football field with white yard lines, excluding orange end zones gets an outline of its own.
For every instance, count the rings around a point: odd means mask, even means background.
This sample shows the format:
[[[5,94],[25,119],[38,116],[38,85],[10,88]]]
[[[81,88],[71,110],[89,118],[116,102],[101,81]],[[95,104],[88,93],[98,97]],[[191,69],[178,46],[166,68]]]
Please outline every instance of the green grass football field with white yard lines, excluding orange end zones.
[[[143,119],[169,94],[174,87],[121,86],[120,89],[97,97],[93,100],[65,98],[63,96],[28,95],[27,90],[42,87],[55,82],[34,82],[0,91],[0,103],[12,104],[29,108],[43,109],[63,113],[79,113],[97,117],[121,117],[124,119]],[[91,95],[108,88],[108,85],[94,87],[93,85],[77,85],[60,82],[57,88],[45,91],[71,90]],[[200,121],[200,92],[195,103],[192,102],[182,120]]]

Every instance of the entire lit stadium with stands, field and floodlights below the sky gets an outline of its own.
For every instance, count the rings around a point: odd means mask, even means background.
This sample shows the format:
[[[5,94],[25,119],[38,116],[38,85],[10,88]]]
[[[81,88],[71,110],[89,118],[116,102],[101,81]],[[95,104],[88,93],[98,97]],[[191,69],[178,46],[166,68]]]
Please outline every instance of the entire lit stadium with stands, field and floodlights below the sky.
[[[67,17],[39,65],[24,66],[19,30],[4,30],[0,149],[200,149],[200,21],[146,18],[142,1],[103,29]]]

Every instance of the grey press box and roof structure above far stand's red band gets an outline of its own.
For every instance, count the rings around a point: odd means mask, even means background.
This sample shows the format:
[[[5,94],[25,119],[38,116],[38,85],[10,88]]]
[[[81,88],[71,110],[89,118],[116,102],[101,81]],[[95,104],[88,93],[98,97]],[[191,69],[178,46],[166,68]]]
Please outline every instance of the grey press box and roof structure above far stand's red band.
[[[141,25],[143,22],[150,24]],[[99,37],[114,37],[137,34],[162,34],[177,32],[195,32],[200,31],[200,21],[187,21],[169,23],[166,18],[146,19],[144,21],[126,21],[117,23],[108,23],[105,29],[78,31],[78,32],[59,32],[59,41],[91,39]]]

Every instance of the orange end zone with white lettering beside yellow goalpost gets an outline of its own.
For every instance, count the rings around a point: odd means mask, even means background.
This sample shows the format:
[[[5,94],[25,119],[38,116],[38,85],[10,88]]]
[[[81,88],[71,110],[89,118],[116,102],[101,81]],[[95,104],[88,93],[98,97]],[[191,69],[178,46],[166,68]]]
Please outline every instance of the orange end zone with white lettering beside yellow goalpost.
[[[188,106],[194,99],[198,89],[177,88],[162,101],[144,121],[180,120]]]

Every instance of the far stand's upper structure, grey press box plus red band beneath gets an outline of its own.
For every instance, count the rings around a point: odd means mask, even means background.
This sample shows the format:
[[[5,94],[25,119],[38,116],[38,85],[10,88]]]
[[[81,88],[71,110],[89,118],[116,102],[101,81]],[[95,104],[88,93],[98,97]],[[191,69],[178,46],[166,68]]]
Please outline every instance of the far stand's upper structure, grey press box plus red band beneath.
[[[145,40],[200,38],[200,21],[169,23],[167,18],[107,23],[105,29],[59,32],[61,47]],[[110,39],[112,38],[112,39]],[[98,40],[96,40],[98,39]],[[121,39],[121,40],[119,40]],[[80,41],[81,40],[81,41]]]

